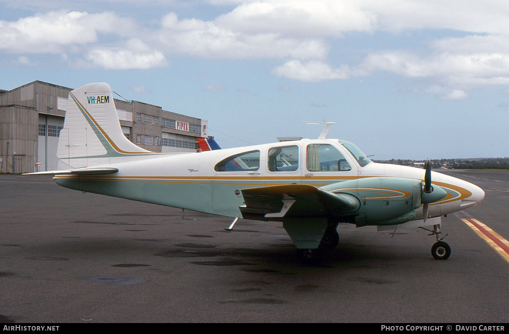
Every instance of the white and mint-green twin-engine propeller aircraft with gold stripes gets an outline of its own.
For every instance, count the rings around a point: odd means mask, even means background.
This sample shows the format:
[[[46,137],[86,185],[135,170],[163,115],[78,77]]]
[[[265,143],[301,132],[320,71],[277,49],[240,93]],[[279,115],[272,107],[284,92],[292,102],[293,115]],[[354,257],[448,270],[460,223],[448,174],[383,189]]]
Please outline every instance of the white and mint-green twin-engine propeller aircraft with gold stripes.
[[[32,174],[54,174],[71,189],[230,216],[230,230],[238,218],[282,221],[305,262],[337,245],[340,223],[425,228],[437,239],[433,257],[447,259],[440,217],[476,205],[484,191],[432,172],[429,163],[422,170],[372,162],[352,143],[326,139],[330,126],[316,140],[154,153],[124,136],[110,87],[90,84],[69,93],[58,170]]]

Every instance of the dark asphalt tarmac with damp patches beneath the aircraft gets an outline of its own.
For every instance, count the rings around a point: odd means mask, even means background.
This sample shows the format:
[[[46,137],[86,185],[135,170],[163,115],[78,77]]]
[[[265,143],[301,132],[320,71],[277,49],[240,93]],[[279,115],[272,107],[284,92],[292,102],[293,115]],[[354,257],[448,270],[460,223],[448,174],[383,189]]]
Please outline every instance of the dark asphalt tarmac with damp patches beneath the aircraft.
[[[444,171],[482,187],[442,218],[447,261],[419,229],[340,225],[302,265],[280,223],[232,219],[0,175],[0,322],[505,323],[509,263],[460,218],[509,239],[509,173]]]

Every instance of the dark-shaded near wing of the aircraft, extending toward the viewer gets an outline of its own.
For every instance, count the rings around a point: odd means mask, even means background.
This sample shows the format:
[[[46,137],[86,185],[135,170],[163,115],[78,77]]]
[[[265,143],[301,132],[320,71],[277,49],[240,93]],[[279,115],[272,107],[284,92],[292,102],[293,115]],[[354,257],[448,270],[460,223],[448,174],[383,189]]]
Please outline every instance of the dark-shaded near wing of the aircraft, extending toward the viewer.
[[[243,189],[244,219],[281,220],[343,216],[357,211],[359,200],[348,193],[333,193],[308,184],[287,184]]]

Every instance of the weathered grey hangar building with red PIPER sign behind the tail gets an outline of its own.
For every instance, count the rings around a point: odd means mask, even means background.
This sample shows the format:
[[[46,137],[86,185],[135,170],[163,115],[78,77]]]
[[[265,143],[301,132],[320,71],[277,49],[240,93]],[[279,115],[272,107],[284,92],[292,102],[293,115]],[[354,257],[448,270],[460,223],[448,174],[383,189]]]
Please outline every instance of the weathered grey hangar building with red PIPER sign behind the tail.
[[[0,173],[56,169],[56,149],[71,88],[34,81],[0,90]],[[207,121],[138,101],[115,99],[124,135],[153,152],[195,152]]]

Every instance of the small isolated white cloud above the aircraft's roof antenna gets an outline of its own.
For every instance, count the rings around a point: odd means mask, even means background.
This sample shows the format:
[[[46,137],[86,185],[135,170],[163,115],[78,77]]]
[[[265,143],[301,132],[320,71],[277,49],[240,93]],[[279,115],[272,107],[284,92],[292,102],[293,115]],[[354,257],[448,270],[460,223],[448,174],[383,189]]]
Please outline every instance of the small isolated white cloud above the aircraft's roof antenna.
[[[290,79],[308,82],[350,78],[350,69],[348,66],[344,65],[341,68],[332,68],[328,64],[320,61],[302,63],[299,60],[292,60],[273,68],[271,73],[277,76],[285,76]]]

